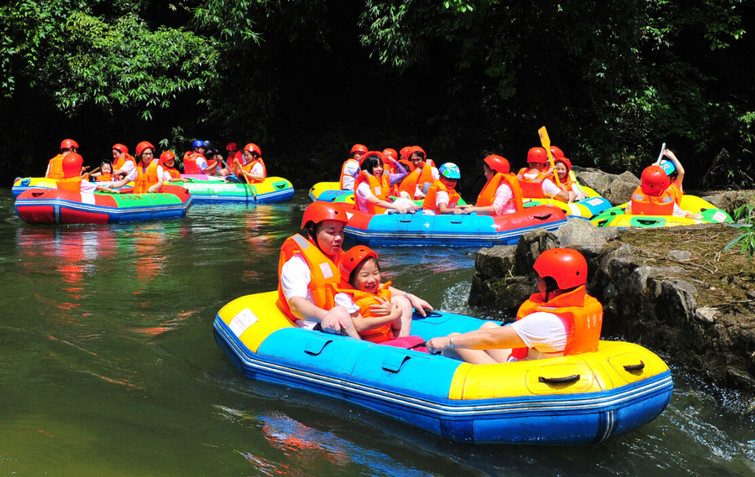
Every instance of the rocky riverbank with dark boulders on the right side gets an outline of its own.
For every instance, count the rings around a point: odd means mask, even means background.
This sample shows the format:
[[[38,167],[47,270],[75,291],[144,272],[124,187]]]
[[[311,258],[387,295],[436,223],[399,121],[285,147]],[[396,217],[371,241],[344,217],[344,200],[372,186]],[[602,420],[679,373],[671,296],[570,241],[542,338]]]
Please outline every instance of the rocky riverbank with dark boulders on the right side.
[[[731,213],[755,203],[755,192],[705,198]],[[721,224],[619,231],[571,219],[556,233],[480,250],[469,303],[513,317],[536,291],[539,254],[571,247],[587,258],[604,337],[640,343],[717,385],[755,393],[755,264],[738,249],[723,251],[739,233]]]

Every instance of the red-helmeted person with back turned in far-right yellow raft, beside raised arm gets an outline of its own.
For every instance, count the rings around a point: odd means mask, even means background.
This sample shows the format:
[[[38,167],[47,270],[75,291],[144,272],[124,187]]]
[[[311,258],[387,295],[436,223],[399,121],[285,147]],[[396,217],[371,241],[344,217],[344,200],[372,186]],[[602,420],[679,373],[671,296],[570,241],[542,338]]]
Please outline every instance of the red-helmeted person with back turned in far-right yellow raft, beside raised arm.
[[[634,215],[673,215],[701,219],[701,214],[683,210],[676,203],[674,194],[669,191],[671,180],[662,167],[646,167],[640,176],[641,185],[632,192],[632,199],[626,208],[627,214]]]

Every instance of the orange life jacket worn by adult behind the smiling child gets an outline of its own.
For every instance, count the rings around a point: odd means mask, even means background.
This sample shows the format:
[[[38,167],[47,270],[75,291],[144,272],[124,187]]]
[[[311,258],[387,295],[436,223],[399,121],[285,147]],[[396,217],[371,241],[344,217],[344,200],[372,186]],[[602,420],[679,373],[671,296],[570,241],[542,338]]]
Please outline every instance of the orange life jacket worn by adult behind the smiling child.
[[[283,242],[280,258],[278,259],[278,308],[291,320],[297,320],[288,306],[288,300],[283,294],[280,276],[283,265],[291,257],[301,252],[304,260],[309,265],[310,281],[309,291],[315,300],[315,305],[323,310],[331,310],[335,307],[335,287],[341,281],[341,273],[338,267],[319,248],[300,234],[293,235]],[[336,257],[338,261],[338,257]]]

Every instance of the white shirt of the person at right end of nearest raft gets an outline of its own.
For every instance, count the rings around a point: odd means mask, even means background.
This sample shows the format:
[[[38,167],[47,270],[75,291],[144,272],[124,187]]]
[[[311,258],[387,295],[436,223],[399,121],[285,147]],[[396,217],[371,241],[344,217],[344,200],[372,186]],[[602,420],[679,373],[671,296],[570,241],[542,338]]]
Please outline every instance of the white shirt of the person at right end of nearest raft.
[[[512,323],[514,331],[527,345],[528,360],[563,356],[569,338],[569,322],[553,313],[537,311]]]

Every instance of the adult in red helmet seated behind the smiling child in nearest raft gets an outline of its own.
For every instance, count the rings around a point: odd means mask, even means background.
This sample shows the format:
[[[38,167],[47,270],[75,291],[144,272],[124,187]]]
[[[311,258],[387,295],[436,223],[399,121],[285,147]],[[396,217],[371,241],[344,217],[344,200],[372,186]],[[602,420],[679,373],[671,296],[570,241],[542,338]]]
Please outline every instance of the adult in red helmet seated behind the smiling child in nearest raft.
[[[278,260],[278,308],[297,326],[319,328],[326,333],[359,338],[351,313],[358,310],[338,305],[335,289],[341,282],[336,263],[343,253],[346,211],[337,203],[313,202],[302,217],[302,230],[286,239]],[[432,306],[401,290],[422,316]]]

